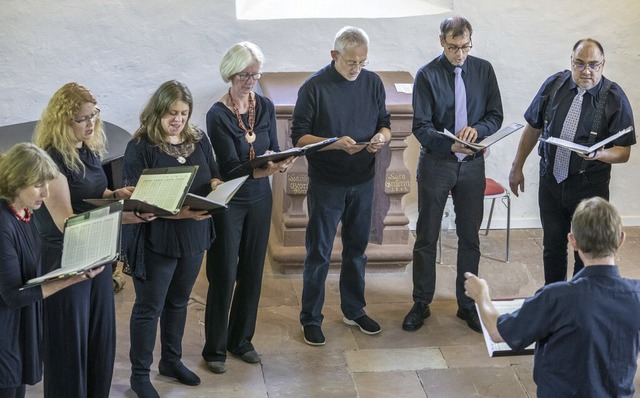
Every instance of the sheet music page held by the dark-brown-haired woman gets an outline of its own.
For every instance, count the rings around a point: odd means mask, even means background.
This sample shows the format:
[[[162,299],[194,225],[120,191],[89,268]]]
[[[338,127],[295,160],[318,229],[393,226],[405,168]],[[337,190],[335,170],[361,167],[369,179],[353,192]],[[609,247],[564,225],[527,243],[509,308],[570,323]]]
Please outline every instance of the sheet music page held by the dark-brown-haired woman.
[[[166,210],[180,206],[184,187],[189,183],[191,173],[143,174],[138,180],[131,199],[153,204]]]

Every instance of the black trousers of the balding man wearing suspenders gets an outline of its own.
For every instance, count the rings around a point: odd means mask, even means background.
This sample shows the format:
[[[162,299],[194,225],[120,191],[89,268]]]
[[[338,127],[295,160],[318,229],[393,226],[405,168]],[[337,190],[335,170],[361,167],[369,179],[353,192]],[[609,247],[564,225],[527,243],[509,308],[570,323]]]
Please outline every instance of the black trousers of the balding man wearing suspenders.
[[[552,173],[540,176],[538,205],[543,236],[543,264],[545,284],[567,280],[567,234],[571,231],[571,218],[581,200],[594,196],[609,200],[609,172],[597,175],[587,173],[569,176],[558,184]],[[574,252],[573,275],[584,264]]]

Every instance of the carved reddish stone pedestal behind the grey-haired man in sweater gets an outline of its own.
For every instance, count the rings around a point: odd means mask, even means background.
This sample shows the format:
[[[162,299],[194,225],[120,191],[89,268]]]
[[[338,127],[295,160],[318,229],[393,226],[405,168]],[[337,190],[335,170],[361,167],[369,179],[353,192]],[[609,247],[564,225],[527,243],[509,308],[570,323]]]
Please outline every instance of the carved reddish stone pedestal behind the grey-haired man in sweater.
[[[375,198],[372,228],[367,248],[369,269],[404,269],[412,260],[414,238],[402,198],[409,193],[411,173],[404,162],[406,138],[411,134],[411,94],[400,92],[396,84],[413,83],[408,72],[377,72],[387,93],[387,109],[391,113],[391,142],[376,155]],[[298,89],[311,72],[265,73],[260,90],[276,108],[278,140],[281,149],[292,146],[291,116]],[[309,177],[306,159],[298,159],[285,173],[273,176],[272,233],[269,256],[272,264],[284,271],[299,272],[304,263],[305,229],[308,216],[306,194]],[[342,243],[334,241],[331,264],[339,265]]]

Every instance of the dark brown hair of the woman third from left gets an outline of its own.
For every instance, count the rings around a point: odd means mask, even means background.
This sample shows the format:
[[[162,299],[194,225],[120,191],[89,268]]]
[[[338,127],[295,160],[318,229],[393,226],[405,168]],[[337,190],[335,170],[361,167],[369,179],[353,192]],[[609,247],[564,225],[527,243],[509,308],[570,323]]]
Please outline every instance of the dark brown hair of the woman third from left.
[[[133,135],[134,138],[140,139],[146,137],[149,142],[159,147],[163,151],[168,151],[169,143],[166,139],[167,133],[162,128],[162,117],[169,112],[171,106],[176,101],[183,101],[189,105],[189,116],[184,129],[180,132],[180,136],[184,139],[185,144],[195,144],[200,141],[202,134],[197,127],[189,123],[193,114],[193,97],[191,91],[182,82],[177,80],[169,80],[156,90],[149,102],[145,105],[140,114],[140,127]]]

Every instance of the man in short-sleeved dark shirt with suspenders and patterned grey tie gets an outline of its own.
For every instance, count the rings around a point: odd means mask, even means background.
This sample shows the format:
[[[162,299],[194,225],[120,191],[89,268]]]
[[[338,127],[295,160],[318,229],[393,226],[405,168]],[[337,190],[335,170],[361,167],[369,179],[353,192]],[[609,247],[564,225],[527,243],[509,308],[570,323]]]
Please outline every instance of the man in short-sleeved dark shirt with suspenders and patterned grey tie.
[[[516,196],[524,192],[522,169],[541,136],[591,146],[633,127],[629,100],[618,84],[603,76],[604,64],[604,49],[598,41],[578,40],[571,53],[571,70],[555,73],[540,87],[524,114],[527,125],[509,174]],[[547,143],[538,147],[545,284],[567,279],[567,234],[573,212],[583,199],[609,199],[611,164],[629,160],[635,143],[635,133],[625,134],[586,156]],[[584,267],[578,252],[574,259],[573,275]]]

